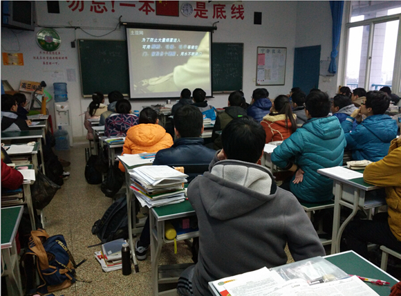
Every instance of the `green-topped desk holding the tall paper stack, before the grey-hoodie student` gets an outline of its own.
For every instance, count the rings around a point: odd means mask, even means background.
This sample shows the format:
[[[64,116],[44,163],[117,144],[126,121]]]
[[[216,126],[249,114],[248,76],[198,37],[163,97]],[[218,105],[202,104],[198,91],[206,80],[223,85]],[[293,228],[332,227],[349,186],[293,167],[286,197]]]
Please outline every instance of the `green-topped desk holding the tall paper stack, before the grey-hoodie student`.
[[[161,207],[152,207],[149,210],[149,227],[151,230],[151,275],[153,295],[176,295],[176,290],[164,291],[159,294],[158,284],[174,283],[178,281],[181,272],[185,270],[189,264],[174,264],[171,266],[158,266],[160,254],[162,252],[163,242],[173,242],[165,239],[165,221],[171,219],[182,218],[186,216],[196,215],[194,208],[189,201],[176,203],[174,205],[163,205]],[[180,239],[192,239],[198,237],[199,232],[189,232],[180,236]],[[171,293],[171,294],[170,294]]]

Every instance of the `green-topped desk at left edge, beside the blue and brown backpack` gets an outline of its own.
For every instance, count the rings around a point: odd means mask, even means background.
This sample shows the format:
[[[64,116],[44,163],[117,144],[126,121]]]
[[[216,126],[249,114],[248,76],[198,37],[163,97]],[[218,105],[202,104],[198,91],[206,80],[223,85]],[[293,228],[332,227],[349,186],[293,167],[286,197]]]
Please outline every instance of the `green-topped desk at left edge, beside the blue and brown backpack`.
[[[24,212],[22,205],[1,209],[1,261],[4,260],[6,264],[6,269],[3,270],[1,276],[8,276],[8,295],[24,295],[15,243],[22,212]]]

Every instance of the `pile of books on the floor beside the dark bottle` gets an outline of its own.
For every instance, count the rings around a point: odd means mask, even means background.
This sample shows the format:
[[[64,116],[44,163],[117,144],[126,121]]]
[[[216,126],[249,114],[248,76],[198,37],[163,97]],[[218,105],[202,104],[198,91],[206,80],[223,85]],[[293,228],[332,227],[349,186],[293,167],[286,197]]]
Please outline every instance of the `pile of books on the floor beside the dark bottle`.
[[[102,266],[103,271],[109,272],[122,268],[121,248],[122,244],[125,242],[124,239],[109,241],[109,243],[104,243],[102,245],[102,250],[100,252],[95,252],[95,257],[100,263],[100,266]]]

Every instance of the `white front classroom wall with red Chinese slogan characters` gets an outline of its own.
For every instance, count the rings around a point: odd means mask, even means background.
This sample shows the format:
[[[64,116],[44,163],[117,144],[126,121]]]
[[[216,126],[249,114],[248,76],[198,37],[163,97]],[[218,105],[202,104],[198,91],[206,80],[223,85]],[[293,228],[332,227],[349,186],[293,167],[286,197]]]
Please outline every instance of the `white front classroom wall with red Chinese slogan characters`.
[[[71,3],[84,3],[84,9],[79,12],[80,6],[68,8]],[[195,1],[189,1],[196,7]],[[297,1],[212,1],[205,2],[208,19],[184,17],[158,16],[155,12],[146,15],[139,10],[142,3],[138,1],[106,1],[107,12],[91,12],[91,1],[59,1],[60,14],[48,14],[46,1],[37,1],[37,24],[43,27],[55,28],[62,38],[59,56],[66,59],[57,59],[58,65],[43,65],[43,59],[37,57],[50,57],[41,52],[36,44],[35,32],[10,30],[1,28],[1,51],[7,53],[23,53],[24,66],[1,66],[1,79],[8,80],[11,86],[18,89],[21,79],[41,81],[47,83],[46,89],[53,94],[53,82],[67,82],[68,100],[71,102],[71,118],[73,136],[84,136],[86,129],[83,126],[83,116],[90,99],[82,98],[80,86],[80,67],[78,62],[77,46],[71,48],[71,42],[76,39],[125,39],[124,27],[116,28],[118,18],[121,21],[153,24],[178,24],[191,26],[212,26],[219,21],[217,30],[213,34],[214,42],[243,42],[244,44],[244,71],[243,91],[247,102],[250,102],[256,79],[257,46],[287,47],[286,82],[283,86],[268,86],[270,98],[281,93],[288,93],[292,87],[292,73],[294,61],[294,48],[296,46],[310,46],[321,44],[322,57],[330,55],[331,46],[331,19],[330,7],[327,1],[297,2]],[[134,3],[136,7],[120,7],[120,3]],[[180,6],[184,1],[180,1]],[[213,4],[226,4],[226,19],[213,19]],[[241,3],[244,7],[244,19],[231,19],[231,6]],[[75,4],[74,4],[75,5]],[[153,5],[154,8],[154,5]],[[115,11],[112,12],[112,9]],[[298,11],[297,11],[298,10]],[[262,12],[262,25],[253,24],[254,12]],[[319,15],[317,21],[310,23],[313,15]],[[308,15],[308,19],[302,17]],[[326,16],[328,15],[328,19]],[[316,25],[319,24],[319,25]],[[80,26],[83,30],[74,27]],[[66,28],[70,27],[70,28]],[[115,29],[115,30],[114,30]],[[308,33],[310,30],[311,33]],[[113,31],[113,32],[111,32]],[[105,35],[109,33],[108,35]],[[316,34],[315,34],[316,33]],[[319,33],[319,36],[315,36]],[[93,37],[91,35],[103,37]],[[323,42],[328,44],[323,44]],[[75,42],[76,45],[76,42]],[[55,56],[57,57],[57,55]],[[68,71],[68,72],[67,72]],[[69,75],[67,75],[69,73]],[[75,73],[75,75],[71,75]],[[106,82],[100,82],[106,83]],[[333,83],[332,83],[333,84]],[[322,85],[322,84],[321,84]],[[321,89],[326,90],[329,88]],[[332,92],[334,93],[334,92]],[[228,94],[214,95],[209,104],[215,107],[227,105]],[[142,106],[162,103],[163,100],[132,100],[133,109],[142,109]],[[54,121],[54,120],[53,120]]]

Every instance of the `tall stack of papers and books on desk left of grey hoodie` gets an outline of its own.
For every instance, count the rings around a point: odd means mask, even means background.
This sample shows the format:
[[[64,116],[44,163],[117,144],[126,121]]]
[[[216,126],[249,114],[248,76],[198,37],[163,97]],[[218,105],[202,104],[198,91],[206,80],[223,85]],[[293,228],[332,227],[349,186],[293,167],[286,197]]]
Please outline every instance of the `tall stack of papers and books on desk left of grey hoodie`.
[[[142,207],[157,207],[185,200],[186,174],[167,165],[136,167],[129,172],[131,189]]]

